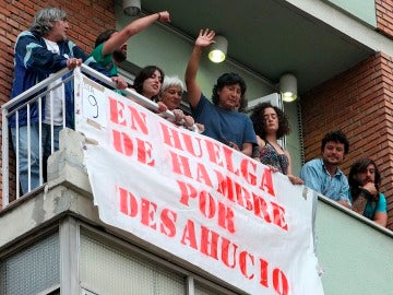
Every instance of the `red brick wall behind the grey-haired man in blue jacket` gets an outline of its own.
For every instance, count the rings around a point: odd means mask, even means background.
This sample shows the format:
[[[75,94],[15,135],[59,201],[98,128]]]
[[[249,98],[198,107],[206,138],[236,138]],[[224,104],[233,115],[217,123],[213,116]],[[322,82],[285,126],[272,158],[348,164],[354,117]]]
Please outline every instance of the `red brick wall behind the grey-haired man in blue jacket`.
[[[115,0],[2,0],[0,1],[0,104],[9,101],[13,80],[13,46],[16,36],[27,30],[41,8],[57,7],[68,13],[69,38],[91,52],[96,36],[116,27]],[[1,123],[1,120],[0,120]],[[0,160],[1,161],[1,160]],[[12,173],[14,166],[10,167]],[[14,184],[11,175],[10,184]],[[1,177],[0,177],[1,181]],[[11,188],[12,189],[12,188]],[[0,191],[0,208],[2,191]]]

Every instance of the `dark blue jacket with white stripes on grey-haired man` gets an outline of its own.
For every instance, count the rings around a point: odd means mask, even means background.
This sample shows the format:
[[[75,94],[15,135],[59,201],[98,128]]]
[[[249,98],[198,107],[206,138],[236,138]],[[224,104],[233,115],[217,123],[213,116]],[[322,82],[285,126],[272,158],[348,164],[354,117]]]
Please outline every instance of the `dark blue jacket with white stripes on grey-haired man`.
[[[67,67],[67,59],[81,58],[86,66],[102,72],[105,75],[110,74],[95,62],[80,47],[71,40],[58,43],[60,54],[52,54],[47,49],[45,40],[36,32],[24,31],[16,39],[14,48],[14,81],[11,91],[11,99],[41,82],[51,73],[56,73]],[[69,73],[68,75],[70,75]],[[63,76],[63,80],[66,76]],[[73,83],[64,84],[66,92],[66,123],[67,127],[73,127],[74,102],[73,102]],[[27,98],[28,99],[28,98]],[[22,102],[24,103],[24,102]],[[21,104],[22,104],[21,103]],[[19,104],[19,105],[21,105]],[[45,97],[41,103],[41,119],[45,118]],[[38,103],[31,105],[29,109],[31,123],[38,122]],[[9,125],[15,127],[15,115],[13,115]],[[27,125],[27,108],[23,107],[19,111],[19,125]]]

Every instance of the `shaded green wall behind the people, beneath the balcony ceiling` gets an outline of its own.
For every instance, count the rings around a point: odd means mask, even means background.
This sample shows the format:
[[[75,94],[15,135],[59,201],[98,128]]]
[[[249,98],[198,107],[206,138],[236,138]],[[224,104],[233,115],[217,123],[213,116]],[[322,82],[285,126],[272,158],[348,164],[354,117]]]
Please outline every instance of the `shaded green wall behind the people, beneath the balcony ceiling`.
[[[121,30],[134,17],[124,15],[120,5],[115,5],[117,28]],[[195,35],[199,32],[195,32]],[[155,64],[162,68],[167,75],[177,74],[183,80],[187,62],[192,51],[193,40],[189,40],[177,33],[154,24],[145,31],[133,36],[128,43],[128,60],[141,68]],[[230,44],[228,48],[230,55]],[[276,92],[272,85],[266,84],[261,78],[233,64],[231,62],[213,63],[207,59],[206,52],[202,56],[198,81],[202,92],[211,97],[212,88],[217,78],[225,72],[239,73],[247,83],[246,96],[249,101]],[[300,141],[298,130],[297,105],[285,104],[293,132],[287,138],[287,149],[293,157],[293,173],[299,175],[301,168]]]

